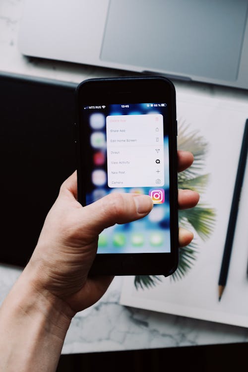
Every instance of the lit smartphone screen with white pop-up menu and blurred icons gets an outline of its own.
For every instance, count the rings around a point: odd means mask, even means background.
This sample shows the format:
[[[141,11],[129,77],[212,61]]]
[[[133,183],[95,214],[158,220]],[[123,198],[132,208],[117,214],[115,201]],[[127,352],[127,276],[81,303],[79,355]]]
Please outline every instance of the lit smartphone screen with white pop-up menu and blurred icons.
[[[89,138],[86,204],[115,192],[147,194],[154,203],[141,220],[105,229],[97,253],[170,252],[167,102],[92,102],[80,110]]]

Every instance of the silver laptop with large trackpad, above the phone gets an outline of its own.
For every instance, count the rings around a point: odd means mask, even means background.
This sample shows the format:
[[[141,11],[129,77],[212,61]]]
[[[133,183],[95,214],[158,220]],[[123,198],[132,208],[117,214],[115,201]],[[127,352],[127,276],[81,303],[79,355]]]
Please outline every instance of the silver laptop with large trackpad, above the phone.
[[[19,48],[248,89],[248,0],[26,0]]]

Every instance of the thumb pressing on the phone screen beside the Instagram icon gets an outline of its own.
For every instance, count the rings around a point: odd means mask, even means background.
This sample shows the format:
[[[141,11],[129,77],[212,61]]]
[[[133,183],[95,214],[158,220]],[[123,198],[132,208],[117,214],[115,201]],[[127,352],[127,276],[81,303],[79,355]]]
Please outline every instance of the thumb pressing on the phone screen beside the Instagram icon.
[[[84,229],[100,234],[105,228],[138,220],[152,209],[149,195],[131,193],[112,193],[83,207],[80,220]]]

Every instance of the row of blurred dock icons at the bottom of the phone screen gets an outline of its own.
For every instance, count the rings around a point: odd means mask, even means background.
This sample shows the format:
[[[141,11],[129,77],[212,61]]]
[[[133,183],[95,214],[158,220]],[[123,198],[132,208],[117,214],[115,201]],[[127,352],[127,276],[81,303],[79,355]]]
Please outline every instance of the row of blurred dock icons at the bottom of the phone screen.
[[[114,233],[110,236],[103,232],[98,239],[99,248],[110,248],[111,246],[122,248],[127,245],[131,247],[144,247],[147,245],[150,247],[161,247],[163,244],[164,235],[159,231],[147,234],[146,237],[142,233],[133,233],[129,238],[124,233]]]

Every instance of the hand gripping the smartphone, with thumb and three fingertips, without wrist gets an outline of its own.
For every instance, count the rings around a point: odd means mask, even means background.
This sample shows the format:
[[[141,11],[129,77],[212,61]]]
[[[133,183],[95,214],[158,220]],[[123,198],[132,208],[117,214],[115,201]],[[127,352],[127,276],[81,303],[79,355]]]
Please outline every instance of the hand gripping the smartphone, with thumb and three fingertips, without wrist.
[[[189,152],[178,151],[178,171],[193,162]],[[179,208],[191,208],[199,195],[179,190]],[[77,201],[77,179],[74,172],[61,186],[59,196],[49,211],[40,238],[26,270],[39,293],[59,298],[72,316],[98,301],[113,277],[88,277],[97,251],[98,235],[116,223],[140,219],[152,209],[148,195],[119,194],[105,196],[82,207]],[[193,238],[179,229],[179,245],[186,246]]]

